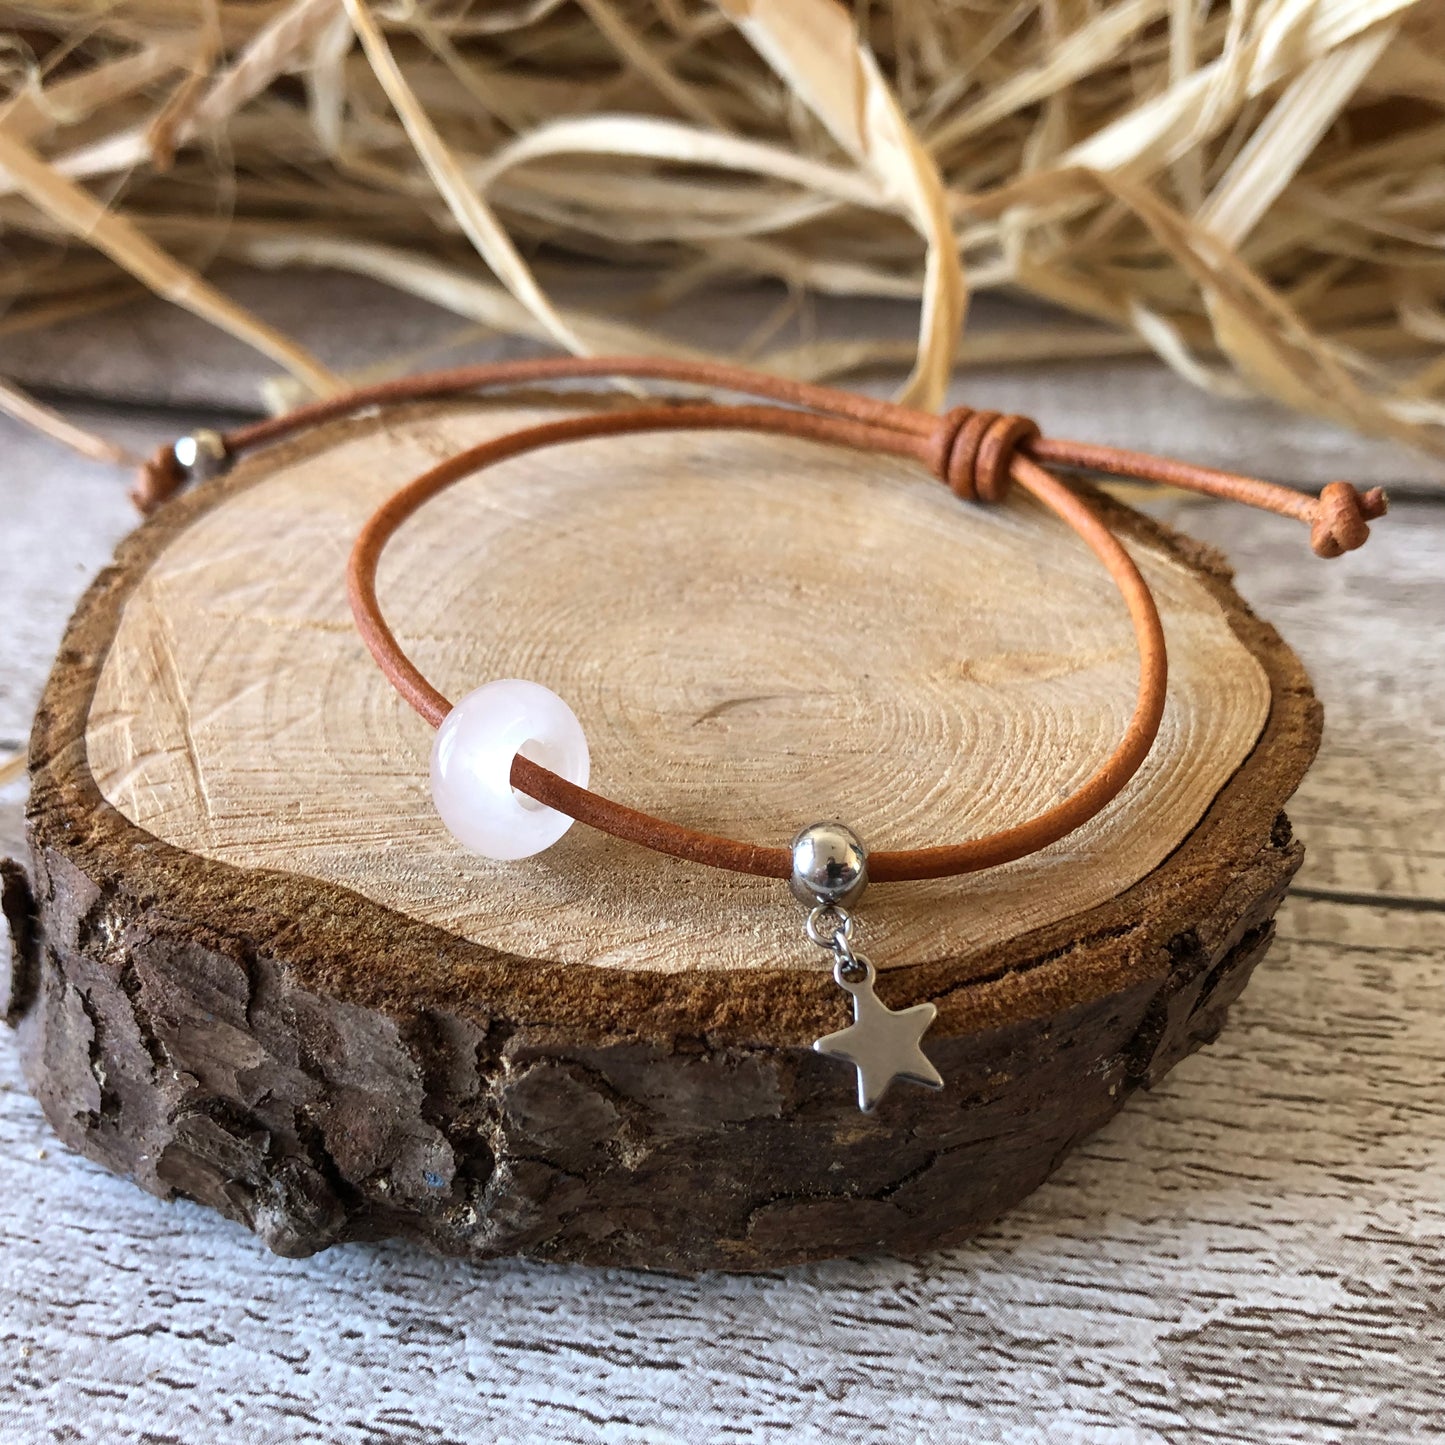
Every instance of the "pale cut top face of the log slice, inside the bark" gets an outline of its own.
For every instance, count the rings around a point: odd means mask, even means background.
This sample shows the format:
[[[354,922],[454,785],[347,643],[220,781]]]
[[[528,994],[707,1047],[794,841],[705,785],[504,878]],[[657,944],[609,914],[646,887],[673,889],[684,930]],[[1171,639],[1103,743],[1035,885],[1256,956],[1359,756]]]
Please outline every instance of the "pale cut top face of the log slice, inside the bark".
[[[523,958],[815,971],[773,880],[699,874],[587,828],[499,864],[436,816],[432,730],[366,656],[347,552],[438,457],[558,415],[389,413],[256,458],[260,480],[176,536],[126,601],[88,714],[100,790],[188,853],[337,883]],[[870,893],[880,968],[1117,896],[1253,750],[1263,668],[1179,558],[1133,551],[1169,637],[1169,704],[1139,776],[1029,858]],[[582,720],[594,788],[772,845],[816,818],[909,848],[1043,812],[1113,750],[1139,676],[1113,582],[1036,503],[961,509],[918,467],[772,436],[519,458],[413,519],[380,591],[448,696],[540,682]]]

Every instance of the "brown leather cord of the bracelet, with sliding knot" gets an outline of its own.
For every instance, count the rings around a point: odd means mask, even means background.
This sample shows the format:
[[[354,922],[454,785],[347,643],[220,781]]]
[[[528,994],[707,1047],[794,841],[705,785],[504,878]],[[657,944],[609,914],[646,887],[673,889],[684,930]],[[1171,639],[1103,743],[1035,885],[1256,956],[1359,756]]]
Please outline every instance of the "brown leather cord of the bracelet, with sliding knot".
[[[1311,542],[1321,556],[1338,556],[1360,546],[1368,536],[1368,522],[1386,509],[1379,488],[1361,494],[1348,483],[1331,483],[1319,499],[1312,499],[1287,487],[1207,467],[1110,447],[1051,441],[1039,435],[1033,422],[1020,416],[968,407],[933,416],[738,367],[666,357],[562,357],[406,377],[241,428],[225,438],[225,445],[236,455],[366,407],[457,396],[493,386],[598,376],[682,381],[760,396],[782,405],[653,403],[530,426],[447,458],[377,509],[357,538],[347,568],[351,610],[381,670],[434,727],[447,717],[451,704],[415,668],[381,616],[376,595],[381,551],[407,517],[447,487],[545,447],[653,431],[762,431],[913,458],[968,501],[1001,501],[1014,483],[1078,533],[1118,588],[1133,623],[1140,669],[1134,711],[1114,751],[1068,798],[1013,828],[961,844],[870,853],[868,876],[877,883],[951,877],[1036,853],[1081,827],[1117,798],[1153,746],[1163,714],[1168,673],[1163,630],[1153,595],[1129,552],[1094,509],[1039,462],[1160,481],[1298,517],[1309,523]],[[137,500],[149,501],[175,490],[175,470],[173,458],[166,461],[163,455],[147,464],[137,486]],[[792,854],[786,847],[740,842],[653,818],[578,788],[520,754],[513,762],[512,783],[579,822],[659,853],[767,877],[788,877],[792,871]]]

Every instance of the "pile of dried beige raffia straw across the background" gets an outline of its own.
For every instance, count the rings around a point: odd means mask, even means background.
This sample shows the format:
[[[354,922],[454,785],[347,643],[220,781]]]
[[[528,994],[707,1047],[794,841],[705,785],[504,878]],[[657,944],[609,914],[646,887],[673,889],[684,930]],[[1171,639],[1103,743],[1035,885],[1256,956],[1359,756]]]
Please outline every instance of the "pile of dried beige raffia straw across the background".
[[[663,348],[644,311],[558,305],[525,259],[551,246],[644,264],[672,303],[738,277],[916,298],[910,355],[866,335],[759,354],[764,331],[751,360],[910,366],[923,405],[970,360],[1152,350],[1220,394],[1445,452],[1429,0],[6,12],[10,335],[139,280],[276,360],[288,402],[334,386],[201,279],[218,259],[348,269],[572,350]],[[965,277],[1095,325],[959,341]]]

